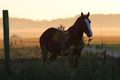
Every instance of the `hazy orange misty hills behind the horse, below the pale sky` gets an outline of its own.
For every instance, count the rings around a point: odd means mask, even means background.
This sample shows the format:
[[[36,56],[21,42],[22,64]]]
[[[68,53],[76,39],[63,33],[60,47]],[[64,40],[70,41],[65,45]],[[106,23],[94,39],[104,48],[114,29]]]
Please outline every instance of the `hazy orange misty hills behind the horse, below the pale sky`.
[[[12,18],[10,17],[10,36],[17,34],[23,38],[27,37],[39,37],[41,33],[44,32],[47,28],[53,26],[58,27],[60,24],[65,26],[65,30],[72,26],[74,21],[79,15],[70,18],[58,18],[49,20],[35,21],[25,18]],[[2,36],[2,18],[0,22],[1,30],[0,33]],[[117,21],[113,21],[116,19]],[[117,36],[120,37],[120,14],[92,14],[90,16],[92,21],[91,27],[94,33],[94,36]]]

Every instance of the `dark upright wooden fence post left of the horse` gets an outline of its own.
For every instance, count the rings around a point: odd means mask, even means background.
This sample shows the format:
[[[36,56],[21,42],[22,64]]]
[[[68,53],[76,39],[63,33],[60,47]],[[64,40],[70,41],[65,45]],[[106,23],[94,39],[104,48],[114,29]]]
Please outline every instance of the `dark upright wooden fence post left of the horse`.
[[[4,32],[4,65],[7,74],[10,73],[10,49],[9,49],[9,16],[8,10],[3,10],[3,32]]]

